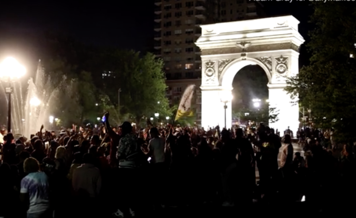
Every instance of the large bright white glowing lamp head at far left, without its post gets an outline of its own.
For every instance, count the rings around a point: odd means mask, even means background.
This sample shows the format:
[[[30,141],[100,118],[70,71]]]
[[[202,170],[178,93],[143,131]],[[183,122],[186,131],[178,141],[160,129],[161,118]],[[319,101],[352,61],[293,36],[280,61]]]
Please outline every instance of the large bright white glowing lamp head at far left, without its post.
[[[26,69],[17,62],[15,58],[6,58],[0,64],[0,77],[1,78],[20,78],[26,74]]]

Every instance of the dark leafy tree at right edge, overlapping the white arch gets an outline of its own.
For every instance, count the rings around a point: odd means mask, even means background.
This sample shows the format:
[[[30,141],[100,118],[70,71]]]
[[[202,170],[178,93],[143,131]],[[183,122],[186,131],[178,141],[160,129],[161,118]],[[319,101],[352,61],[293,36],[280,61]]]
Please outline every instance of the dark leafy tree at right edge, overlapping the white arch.
[[[317,4],[318,3],[318,4]],[[310,65],[287,81],[286,90],[312,112],[315,127],[334,128],[337,140],[356,141],[356,5],[315,2]]]

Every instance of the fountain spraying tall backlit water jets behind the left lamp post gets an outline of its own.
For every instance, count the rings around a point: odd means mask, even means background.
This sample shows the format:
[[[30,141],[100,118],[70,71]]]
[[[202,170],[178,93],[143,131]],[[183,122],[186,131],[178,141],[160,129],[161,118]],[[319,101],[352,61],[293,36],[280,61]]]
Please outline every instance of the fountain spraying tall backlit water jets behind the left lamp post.
[[[31,134],[35,134],[40,130],[41,125],[47,130],[55,129],[56,124],[49,121],[49,117],[53,117],[55,113],[58,114],[58,103],[61,96],[72,97],[71,86],[73,83],[66,83],[64,77],[58,86],[51,83],[51,78],[45,75],[45,70],[38,62],[38,67],[35,75],[35,80],[30,78],[27,84],[27,92],[23,90],[23,85],[20,81],[13,84],[14,94],[12,97],[12,133],[23,134],[30,138]],[[1,84],[5,95],[5,88]],[[25,92],[24,92],[25,91]],[[25,98],[23,96],[26,96]],[[4,105],[5,102],[2,102]],[[61,111],[63,112],[63,111]],[[56,119],[57,121],[58,119]],[[3,120],[1,122],[4,122]]]

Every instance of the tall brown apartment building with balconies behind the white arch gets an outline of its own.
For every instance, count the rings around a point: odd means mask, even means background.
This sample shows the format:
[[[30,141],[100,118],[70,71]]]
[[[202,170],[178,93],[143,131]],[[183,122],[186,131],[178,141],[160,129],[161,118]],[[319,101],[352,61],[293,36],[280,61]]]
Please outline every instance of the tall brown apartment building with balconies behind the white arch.
[[[249,0],[155,0],[154,49],[164,60],[170,103],[178,103],[185,87],[195,84],[192,107],[200,122],[201,53],[194,44],[201,34],[200,25],[263,15],[262,5]]]

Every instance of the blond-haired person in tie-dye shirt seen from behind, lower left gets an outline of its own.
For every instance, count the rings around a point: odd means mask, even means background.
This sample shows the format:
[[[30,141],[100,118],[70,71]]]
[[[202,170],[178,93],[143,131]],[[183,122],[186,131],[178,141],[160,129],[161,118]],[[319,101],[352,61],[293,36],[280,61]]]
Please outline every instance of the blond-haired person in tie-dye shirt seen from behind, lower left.
[[[39,171],[40,163],[32,157],[25,160],[23,169],[28,175],[21,180],[20,198],[27,203],[27,218],[51,217],[47,175]]]

